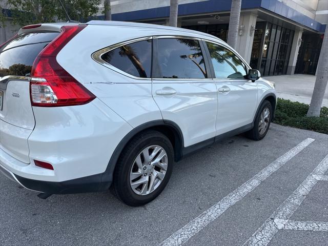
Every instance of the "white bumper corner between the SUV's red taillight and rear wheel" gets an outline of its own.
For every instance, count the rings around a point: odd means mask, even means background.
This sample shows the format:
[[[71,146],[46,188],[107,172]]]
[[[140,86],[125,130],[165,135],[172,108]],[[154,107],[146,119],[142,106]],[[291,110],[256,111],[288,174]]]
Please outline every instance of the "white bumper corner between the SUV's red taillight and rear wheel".
[[[105,172],[120,140],[132,128],[98,98],[86,105],[33,107],[35,129],[28,139],[33,159],[51,163],[52,176],[24,177],[65,181]]]

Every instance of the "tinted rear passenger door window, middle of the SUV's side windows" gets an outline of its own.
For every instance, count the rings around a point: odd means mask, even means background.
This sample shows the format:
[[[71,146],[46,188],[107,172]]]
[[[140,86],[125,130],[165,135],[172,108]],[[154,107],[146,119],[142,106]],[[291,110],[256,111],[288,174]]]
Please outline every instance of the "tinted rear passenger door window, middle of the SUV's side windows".
[[[154,78],[206,78],[199,42],[186,38],[154,39]]]

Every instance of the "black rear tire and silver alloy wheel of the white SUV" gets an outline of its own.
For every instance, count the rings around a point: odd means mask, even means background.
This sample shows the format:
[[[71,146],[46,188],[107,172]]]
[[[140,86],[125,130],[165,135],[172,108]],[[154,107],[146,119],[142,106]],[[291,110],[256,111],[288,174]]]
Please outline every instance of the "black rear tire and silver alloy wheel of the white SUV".
[[[138,134],[129,141],[116,164],[115,195],[134,207],[152,201],[166,187],[173,162],[174,152],[168,137],[154,130]]]

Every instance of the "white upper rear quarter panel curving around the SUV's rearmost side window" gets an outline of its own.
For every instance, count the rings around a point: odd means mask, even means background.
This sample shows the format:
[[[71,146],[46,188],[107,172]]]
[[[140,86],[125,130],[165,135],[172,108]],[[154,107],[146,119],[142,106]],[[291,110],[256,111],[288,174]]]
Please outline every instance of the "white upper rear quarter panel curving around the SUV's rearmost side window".
[[[151,120],[162,119],[152,97],[152,81],[115,72],[97,63],[91,55],[126,40],[153,35],[188,34],[156,28],[88,25],[60,51],[57,61],[132,127],[137,127]]]

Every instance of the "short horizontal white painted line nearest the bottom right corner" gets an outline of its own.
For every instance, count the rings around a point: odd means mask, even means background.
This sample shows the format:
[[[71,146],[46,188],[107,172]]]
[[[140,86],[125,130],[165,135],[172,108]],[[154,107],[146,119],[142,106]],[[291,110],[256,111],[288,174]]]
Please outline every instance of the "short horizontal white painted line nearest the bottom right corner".
[[[328,222],[289,219],[275,219],[274,222],[278,230],[328,232]]]

